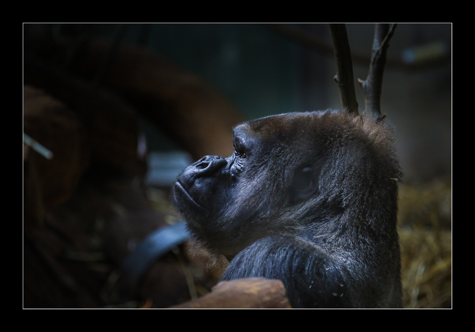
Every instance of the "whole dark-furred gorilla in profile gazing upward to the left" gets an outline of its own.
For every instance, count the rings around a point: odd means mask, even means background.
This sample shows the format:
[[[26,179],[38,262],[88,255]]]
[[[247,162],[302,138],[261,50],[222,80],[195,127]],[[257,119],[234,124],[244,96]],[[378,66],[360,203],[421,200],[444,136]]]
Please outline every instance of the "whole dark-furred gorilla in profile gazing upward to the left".
[[[234,128],[172,190],[222,280],[280,279],[294,308],[400,308],[401,176],[391,127],[371,114],[287,113]]]

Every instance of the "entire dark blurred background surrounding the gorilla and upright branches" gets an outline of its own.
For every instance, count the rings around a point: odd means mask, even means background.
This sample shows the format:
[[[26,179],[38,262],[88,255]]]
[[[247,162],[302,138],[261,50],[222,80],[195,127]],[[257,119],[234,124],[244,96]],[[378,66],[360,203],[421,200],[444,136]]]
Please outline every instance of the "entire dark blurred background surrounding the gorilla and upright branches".
[[[374,25],[347,31],[365,79]],[[341,107],[326,24],[24,24],[23,46],[24,307],[207,294],[225,266],[183,235],[176,175],[243,120]],[[451,46],[451,24],[399,24],[384,73],[408,308],[452,305]]]

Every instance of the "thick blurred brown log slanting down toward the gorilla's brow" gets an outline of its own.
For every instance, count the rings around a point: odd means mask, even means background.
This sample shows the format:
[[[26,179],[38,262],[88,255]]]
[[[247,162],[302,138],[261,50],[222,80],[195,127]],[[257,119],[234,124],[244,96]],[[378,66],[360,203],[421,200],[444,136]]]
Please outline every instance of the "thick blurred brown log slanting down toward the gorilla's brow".
[[[94,76],[110,43],[93,40],[80,75]],[[123,44],[102,85],[117,91],[179,142],[195,160],[233,152],[231,129],[244,119],[230,100],[202,78],[142,47]]]

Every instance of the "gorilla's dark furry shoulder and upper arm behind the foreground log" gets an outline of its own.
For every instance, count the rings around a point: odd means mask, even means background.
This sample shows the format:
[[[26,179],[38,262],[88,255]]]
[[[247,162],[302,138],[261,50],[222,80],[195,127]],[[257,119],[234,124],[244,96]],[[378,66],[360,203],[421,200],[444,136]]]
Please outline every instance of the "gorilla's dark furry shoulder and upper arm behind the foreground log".
[[[266,237],[241,251],[221,280],[280,279],[294,308],[349,308],[346,268],[297,237]]]

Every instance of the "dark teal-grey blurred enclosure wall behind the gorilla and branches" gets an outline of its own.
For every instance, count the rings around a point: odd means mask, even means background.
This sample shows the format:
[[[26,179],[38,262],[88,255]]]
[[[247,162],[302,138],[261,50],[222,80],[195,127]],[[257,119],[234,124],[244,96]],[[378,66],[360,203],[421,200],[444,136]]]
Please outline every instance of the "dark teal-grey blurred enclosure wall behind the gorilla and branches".
[[[89,28],[93,35],[112,40],[118,27],[94,24]],[[287,27],[331,46],[326,24]],[[340,108],[332,52],[309,47],[278,28],[259,24],[127,24],[122,41],[150,48],[203,77],[227,95],[247,119]],[[355,80],[364,79],[374,25],[347,24],[347,30],[352,53],[360,56],[354,61]],[[406,182],[451,174],[451,45],[451,24],[399,24],[390,41],[381,110],[396,128]],[[362,110],[364,100],[358,85],[356,92]],[[142,121],[142,126],[152,150],[179,148],[147,121]]]

